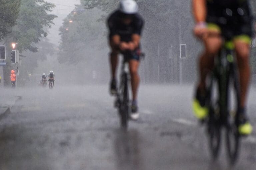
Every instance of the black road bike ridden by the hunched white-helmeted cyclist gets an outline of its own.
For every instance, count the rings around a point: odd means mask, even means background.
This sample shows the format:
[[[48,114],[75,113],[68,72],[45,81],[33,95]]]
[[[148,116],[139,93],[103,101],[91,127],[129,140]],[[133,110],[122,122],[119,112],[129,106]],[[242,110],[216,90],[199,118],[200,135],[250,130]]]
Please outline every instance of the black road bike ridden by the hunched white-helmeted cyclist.
[[[144,53],[136,54],[141,59],[145,57]],[[130,118],[130,100],[129,100],[129,85],[130,85],[130,71],[129,59],[124,56],[122,62],[122,69],[120,74],[120,85],[117,90],[115,107],[119,109],[121,127],[128,128],[128,121]]]

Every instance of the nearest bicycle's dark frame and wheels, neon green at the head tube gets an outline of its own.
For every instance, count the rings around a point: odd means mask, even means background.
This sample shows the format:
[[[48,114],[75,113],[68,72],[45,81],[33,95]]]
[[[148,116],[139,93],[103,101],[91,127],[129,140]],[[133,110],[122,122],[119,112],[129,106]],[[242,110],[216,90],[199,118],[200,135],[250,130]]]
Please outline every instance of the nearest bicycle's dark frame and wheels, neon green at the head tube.
[[[233,49],[223,47],[218,57],[215,57],[215,67],[210,76],[210,83],[207,92],[207,105],[209,108],[208,134],[210,137],[210,147],[213,158],[216,159],[219,153],[221,128],[226,128],[227,134],[227,151],[230,162],[234,163],[237,159],[239,149],[239,133],[237,131],[236,123],[232,123],[229,108],[229,93],[230,83],[233,80],[235,98],[236,98],[236,113],[240,104],[239,81],[237,74],[236,60],[233,55]],[[217,101],[212,99],[213,83],[217,83],[218,98]],[[217,102],[217,103],[215,103]],[[236,117],[238,114],[236,114]],[[235,138],[235,146],[231,148],[231,136]],[[215,140],[215,141],[214,141]],[[215,142],[215,143],[214,143]]]

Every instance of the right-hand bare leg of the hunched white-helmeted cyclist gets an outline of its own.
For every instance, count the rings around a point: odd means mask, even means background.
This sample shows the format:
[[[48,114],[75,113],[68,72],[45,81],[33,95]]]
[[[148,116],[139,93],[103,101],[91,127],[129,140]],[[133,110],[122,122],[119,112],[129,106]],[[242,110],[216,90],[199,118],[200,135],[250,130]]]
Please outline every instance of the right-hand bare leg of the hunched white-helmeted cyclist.
[[[140,83],[140,77],[138,74],[139,61],[131,59],[129,61],[130,74],[131,74],[131,85],[132,85],[132,95],[133,101],[137,100],[137,92]]]

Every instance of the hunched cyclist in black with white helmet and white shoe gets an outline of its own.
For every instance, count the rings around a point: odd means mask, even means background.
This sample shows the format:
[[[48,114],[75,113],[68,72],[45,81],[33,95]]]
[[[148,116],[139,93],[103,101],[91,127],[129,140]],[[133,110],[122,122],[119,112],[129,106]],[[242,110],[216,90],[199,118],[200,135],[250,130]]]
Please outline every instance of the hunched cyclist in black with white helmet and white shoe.
[[[112,72],[112,81],[110,84],[110,93],[115,95],[116,88],[116,68],[118,64],[118,55],[122,53],[129,59],[129,67],[132,85],[132,108],[131,119],[138,119],[137,91],[139,86],[139,51],[140,35],[144,25],[143,18],[138,14],[138,5],[134,0],[122,0],[120,8],[114,11],[108,18],[108,28],[110,30],[109,43],[111,47],[110,63]]]

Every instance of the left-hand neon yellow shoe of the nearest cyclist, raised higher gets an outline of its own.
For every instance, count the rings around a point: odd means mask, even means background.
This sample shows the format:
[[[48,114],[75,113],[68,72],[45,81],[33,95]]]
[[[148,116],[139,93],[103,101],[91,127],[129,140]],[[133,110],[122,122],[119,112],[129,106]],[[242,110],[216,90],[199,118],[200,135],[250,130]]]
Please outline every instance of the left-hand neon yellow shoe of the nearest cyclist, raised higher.
[[[192,107],[197,119],[204,120],[208,117],[208,108],[204,106],[202,107],[197,99],[194,99]]]

